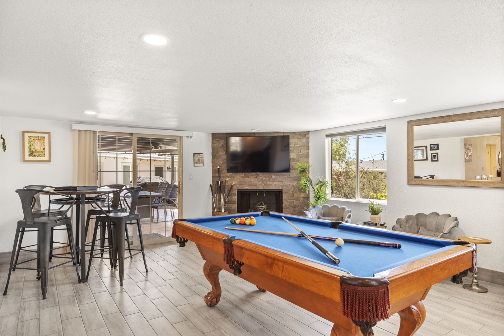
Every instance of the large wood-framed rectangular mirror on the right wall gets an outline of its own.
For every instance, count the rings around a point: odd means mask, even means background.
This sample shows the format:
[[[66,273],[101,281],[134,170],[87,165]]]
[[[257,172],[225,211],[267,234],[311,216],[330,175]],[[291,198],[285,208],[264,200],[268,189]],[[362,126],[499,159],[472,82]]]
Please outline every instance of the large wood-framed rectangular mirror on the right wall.
[[[408,184],[504,188],[504,109],[408,121]]]

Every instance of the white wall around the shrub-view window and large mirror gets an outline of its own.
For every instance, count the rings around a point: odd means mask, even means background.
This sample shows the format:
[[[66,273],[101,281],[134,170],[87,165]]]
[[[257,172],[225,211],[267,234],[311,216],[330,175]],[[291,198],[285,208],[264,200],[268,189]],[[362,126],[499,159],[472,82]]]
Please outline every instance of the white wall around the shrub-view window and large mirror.
[[[310,173],[313,176],[326,173],[326,133],[353,129],[387,127],[387,209],[382,220],[392,229],[397,218],[419,212],[457,216],[457,236],[475,236],[492,240],[490,245],[478,248],[478,265],[504,272],[504,190],[500,188],[450,187],[407,184],[407,120],[427,118],[452,113],[475,112],[503,108],[504,102],[436,111],[409,117],[387,119],[310,132]],[[430,154],[429,154],[430,155]],[[430,158],[429,158],[430,160]],[[352,210],[352,223],[369,219],[366,202],[330,200]]]

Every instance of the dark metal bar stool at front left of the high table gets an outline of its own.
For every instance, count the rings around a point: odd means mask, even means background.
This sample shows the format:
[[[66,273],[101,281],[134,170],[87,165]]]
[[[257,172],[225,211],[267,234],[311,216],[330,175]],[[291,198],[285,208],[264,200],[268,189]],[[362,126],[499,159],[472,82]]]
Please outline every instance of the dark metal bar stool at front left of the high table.
[[[47,294],[47,279],[48,279],[47,276],[48,271],[51,268],[64,265],[69,262],[74,262],[75,271],[77,273],[77,279],[79,282],[81,282],[81,279],[79,277],[79,270],[77,267],[74,235],[72,232],[72,219],[70,217],[66,217],[67,212],[69,211],[70,208],[67,209],[67,211],[59,217],[50,217],[50,216],[34,217],[32,213],[33,197],[35,197],[38,193],[40,193],[40,189],[17,189],[16,192],[21,198],[21,205],[23,207],[24,219],[18,221],[16,236],[14,238],[14,246],[12,248],[11,263],[9,266],[9,275],[7,276],[7,283],[5,285],[4,295],[7,295],[7,289],[9,288],[9,282],[11,280],[11,272],[15,271],[16,267],[20,268],[21,270],[35,270],[37,271],[37,276],[40,274],[40,287],[42,291],[42,299],[45,299],[45,296]],[[60,194],[57,192],[44,191],[44,193],[68,197],[67,195]],[[75,197],[70,196],[69,198],[72,198],[73,202],[75,203]],[[62,230],[67,230],[69,240],[69,244],[67,246],[70,247],[70,252],[52,254],[52,257],[65,258],[71,260],[49,267],[49,257],[51,255],[51,238],[50,238],[51,232],[53,230],[57,230],[54,228],[58,226],[65,226],[65,229]],[[22,262],[17,261],[15,262],[14,258],[17,255],[16,246],[18,245],[18,240],[20,238],[21,232],[25,232],[26,231],[25,229],[35,229],[28,231],[37,231],[37,250],[33,251],[37,252],[37,257]],[[21,242],[19,242],[19,246],[21,247]],[[62,248],[64,247],[66,246],[62,246]],[[67,254],[70,254],[70,256],[65,256]],[[19,265],[35,259],[37,260],[37,268],[19,267]]]

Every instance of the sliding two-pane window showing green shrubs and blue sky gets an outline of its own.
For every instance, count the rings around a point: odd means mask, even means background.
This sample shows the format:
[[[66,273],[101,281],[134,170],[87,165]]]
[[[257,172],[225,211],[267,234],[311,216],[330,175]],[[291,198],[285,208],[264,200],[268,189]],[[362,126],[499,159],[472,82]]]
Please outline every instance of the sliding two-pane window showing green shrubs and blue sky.
[[[326,137],[332,197],[387,199],[385,127]]]

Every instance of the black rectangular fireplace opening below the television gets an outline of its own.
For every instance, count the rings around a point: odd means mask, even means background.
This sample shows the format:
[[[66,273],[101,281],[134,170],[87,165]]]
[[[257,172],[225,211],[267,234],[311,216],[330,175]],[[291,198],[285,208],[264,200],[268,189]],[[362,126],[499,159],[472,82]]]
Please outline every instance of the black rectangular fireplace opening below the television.
[[[236,197],[237,213],[263,210],[283,212],[282,189],[238,189]]]

